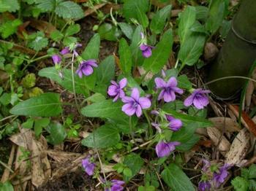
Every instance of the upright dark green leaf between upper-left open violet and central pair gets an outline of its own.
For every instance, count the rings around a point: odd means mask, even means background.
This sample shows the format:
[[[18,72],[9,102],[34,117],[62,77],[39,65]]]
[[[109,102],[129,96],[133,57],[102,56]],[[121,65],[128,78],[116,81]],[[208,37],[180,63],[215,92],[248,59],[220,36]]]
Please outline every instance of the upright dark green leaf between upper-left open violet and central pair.
[[[100,63],[96,69],[97,84],[108,85],[110,83],[110,80],[115,77],[115,66],[115,58],[113,57],[113,55],[105,58],[105,60],[102,61],[102,63]]]

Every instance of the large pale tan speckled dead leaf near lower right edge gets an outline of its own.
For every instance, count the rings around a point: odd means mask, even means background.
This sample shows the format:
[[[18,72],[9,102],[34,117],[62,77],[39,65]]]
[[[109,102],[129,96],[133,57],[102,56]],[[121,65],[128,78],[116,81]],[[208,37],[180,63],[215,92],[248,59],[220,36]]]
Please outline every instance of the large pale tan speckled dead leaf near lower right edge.
[[[225,163],[230,165],[239,165],[246,156],[249,149],[249,132],[246,128],[240,130],[229,152],[227,152]]]

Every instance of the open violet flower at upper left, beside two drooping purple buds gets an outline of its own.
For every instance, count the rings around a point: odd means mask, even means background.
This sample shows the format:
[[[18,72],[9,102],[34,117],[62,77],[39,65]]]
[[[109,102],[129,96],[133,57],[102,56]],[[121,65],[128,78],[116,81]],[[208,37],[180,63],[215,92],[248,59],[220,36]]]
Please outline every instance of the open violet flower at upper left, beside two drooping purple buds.
[[[82,61],[79,65],[78,70],[75,72],[78,74],[80,78],[85,76],[89,76],[94,72],[93,67],[98,67],[97,62],[93,59],[88,60],[88,61]]]

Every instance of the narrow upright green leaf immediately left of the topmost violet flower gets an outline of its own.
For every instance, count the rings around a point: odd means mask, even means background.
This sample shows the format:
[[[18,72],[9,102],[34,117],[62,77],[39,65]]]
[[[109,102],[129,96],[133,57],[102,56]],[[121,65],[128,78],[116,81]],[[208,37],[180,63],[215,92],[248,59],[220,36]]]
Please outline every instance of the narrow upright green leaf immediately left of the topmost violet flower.
[[[140,33],[143,32],[142,26],[138,26],[132,36],[132,43],[130,45],[130,50],[132,51],[132,61],[135,66],[141,66],[144,61],[143,55],[139,48],[139,43],[141,40]]]

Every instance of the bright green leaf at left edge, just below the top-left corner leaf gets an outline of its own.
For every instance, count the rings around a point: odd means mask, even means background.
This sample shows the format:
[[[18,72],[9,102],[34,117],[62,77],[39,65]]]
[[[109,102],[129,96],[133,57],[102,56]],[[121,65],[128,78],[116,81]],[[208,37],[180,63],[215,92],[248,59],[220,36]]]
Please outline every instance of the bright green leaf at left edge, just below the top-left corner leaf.
[[[2,23],[0,26],[1,37],[3,37],[3,39],[6,39],[10,35],[15,34],[18,26],[20,26],[21,24],[22,22],[19,19],[8,20],[6,23]]]

